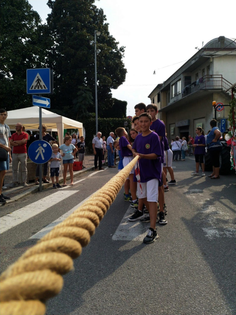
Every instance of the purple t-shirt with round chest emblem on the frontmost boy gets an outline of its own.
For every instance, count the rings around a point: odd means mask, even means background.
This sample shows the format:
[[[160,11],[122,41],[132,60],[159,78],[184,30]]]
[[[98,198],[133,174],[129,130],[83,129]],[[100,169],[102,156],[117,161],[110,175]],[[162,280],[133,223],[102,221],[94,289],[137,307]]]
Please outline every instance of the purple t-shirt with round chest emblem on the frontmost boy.
[[[155,132],[143,136],[137,135],[133,143],[133,149],[138,153],[151,154],[155,153],[159,157],[154,160],[141,158],[139,162],[140,182],[146,183],[152,179],[161,180],[161,147],[160,139]]]

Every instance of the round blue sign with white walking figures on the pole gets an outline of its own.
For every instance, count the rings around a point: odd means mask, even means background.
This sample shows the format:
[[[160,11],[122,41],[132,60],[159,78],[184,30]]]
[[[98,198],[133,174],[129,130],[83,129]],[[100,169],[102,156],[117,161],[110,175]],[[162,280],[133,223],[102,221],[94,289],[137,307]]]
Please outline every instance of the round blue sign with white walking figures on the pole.
[[[52,152],[52,147],[44,140],[36,140],[28,148],[29,158],[36,164],[48,162],[52,156]]]

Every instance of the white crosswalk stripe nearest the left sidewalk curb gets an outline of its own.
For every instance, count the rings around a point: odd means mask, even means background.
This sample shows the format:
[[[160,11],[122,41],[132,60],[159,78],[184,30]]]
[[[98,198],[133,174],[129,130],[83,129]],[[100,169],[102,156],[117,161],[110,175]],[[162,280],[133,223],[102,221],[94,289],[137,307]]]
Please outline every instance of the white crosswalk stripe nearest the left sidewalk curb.
[[[28,206],[20,208],[12,213],[9,213],[8,215],[4,215],[3,217],[1,217],[0,221],[0,234],[34,217],[42,211],[50,208],[52,205],[72,196],[76,192],[78,191],[69,189],[61,191],[60,189],[60,191],[55,192],[48,197],[30,203]]]

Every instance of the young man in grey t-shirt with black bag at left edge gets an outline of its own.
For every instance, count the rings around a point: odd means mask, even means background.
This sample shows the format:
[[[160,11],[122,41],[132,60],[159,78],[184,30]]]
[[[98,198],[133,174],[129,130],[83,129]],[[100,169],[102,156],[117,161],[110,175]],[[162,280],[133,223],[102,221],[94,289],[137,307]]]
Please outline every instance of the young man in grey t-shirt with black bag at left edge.
[[[0,109],[0,147],[8,152],[7,160],[0,161],[0,203],[6,203],[6,200],[11,199],[10,197],[2,194],[4,176],[9,169],[9,163],[11,163],[11,152],[9,137],[11,136],[8,125],[5,124],[7,119],[7,111],[4,108]]]

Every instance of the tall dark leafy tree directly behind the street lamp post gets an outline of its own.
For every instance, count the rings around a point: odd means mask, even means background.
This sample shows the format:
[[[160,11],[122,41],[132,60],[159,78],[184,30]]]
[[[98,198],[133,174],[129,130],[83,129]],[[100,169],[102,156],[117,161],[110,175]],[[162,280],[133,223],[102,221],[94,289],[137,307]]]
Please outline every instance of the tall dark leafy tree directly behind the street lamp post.
[[[48,66],[53,68],[51,108],[76,119],[95,112],[94,31],[99,30],[97,49],[98,115],[113,105],[111,89],[125,81],[124,47],[112,37],[102,9],[94,0],[48,0]],[[93,114],[92,114],[93,115]]]

